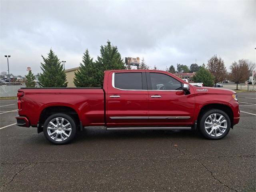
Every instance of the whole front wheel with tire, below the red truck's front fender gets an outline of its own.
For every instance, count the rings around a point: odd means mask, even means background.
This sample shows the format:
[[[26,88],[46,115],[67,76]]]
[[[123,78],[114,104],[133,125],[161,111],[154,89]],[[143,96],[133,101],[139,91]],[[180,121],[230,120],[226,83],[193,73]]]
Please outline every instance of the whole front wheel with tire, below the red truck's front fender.
[[[199,121],[199,130],[208,139],[224,138],[230,131],[230,118],[222,110],[208,110]]]

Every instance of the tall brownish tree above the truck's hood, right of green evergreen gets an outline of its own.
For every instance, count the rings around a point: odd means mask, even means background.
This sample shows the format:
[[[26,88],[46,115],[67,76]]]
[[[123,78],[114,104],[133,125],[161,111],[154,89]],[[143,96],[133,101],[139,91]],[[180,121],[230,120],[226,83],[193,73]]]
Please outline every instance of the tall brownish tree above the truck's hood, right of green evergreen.
[[[212,58],[208,60],[208,70],[212,73],[214,77],[214,84],[216,87],[216,83],[221,82],[225,79],[226,76],[226,67],[224,65],[224,61],[221,57],[217,57],[214,55]]]

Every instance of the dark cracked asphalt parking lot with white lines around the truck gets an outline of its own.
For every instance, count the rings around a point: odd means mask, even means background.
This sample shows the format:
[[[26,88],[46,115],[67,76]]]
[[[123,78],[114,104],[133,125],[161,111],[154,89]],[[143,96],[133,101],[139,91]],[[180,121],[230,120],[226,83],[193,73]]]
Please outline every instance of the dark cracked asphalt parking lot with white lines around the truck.
[[[240,123],[222,140],[94,127],[62,146],[16,126],[16,100],[0,100],[0,190],[255,191],[256,93],[238,99]]]

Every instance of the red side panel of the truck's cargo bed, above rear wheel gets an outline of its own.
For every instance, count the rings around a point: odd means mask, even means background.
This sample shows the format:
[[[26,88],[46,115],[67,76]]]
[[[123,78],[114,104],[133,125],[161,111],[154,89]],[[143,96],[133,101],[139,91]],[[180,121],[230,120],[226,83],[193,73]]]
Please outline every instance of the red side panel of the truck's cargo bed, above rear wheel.
[[[84,126],[104,125],[104,90],[102,88],[21,88],[20,116],[29,116],[36,126],[43,110],[58,106],[76,111]]]

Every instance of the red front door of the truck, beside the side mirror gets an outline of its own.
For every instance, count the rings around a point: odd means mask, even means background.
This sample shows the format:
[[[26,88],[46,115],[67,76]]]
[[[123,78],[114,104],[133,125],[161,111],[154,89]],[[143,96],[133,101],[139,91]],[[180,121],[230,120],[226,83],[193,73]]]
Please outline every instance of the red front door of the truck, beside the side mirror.
[[[185,95],[182,84],[170,74],[147,72],[149,122],[152,125],[191,125],[194,94]]]

